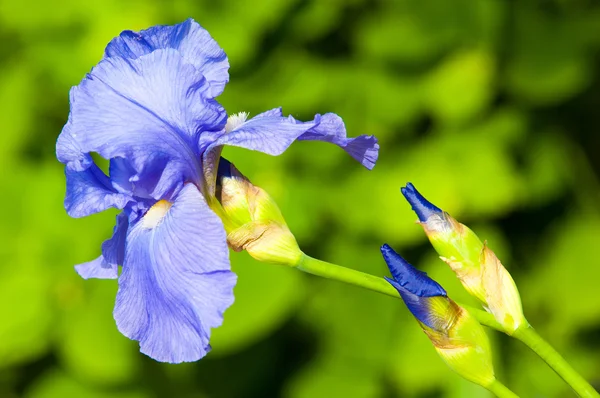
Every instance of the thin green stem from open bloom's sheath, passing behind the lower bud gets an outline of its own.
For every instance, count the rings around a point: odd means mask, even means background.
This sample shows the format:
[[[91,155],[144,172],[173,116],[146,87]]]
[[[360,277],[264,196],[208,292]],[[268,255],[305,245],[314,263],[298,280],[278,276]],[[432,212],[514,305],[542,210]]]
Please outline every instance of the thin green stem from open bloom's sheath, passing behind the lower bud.
[[[302,256],[296,268],[309,274],[333,279],[354,286],[360,286],[394,298],[400,298],[398,291],[383,278],[317,260],[316,258],[307,256],[306,254]],[[477,321],[482,325],[504,332],[504,328],[496,321],[492,314],[468,305],[461,303],[457,304],[469,311],[469,313],[473,315],[473,317],[475,317],[475,319],[477,319]]]

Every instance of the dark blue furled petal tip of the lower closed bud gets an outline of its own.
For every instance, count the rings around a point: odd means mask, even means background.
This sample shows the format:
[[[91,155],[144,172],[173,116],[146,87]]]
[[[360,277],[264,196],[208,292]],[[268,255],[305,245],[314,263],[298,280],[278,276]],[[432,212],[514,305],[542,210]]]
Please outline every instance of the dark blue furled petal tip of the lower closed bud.
[[[419,297],[446,296],[439,283],[410,265],[389,245],[381,246],[381,254],[398,285],[406,291]]]

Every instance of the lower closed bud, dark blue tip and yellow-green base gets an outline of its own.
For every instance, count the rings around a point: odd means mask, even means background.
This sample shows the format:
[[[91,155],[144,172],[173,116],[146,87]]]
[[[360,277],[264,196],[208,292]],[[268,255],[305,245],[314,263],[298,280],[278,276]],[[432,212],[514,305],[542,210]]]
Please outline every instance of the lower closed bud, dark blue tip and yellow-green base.
[[[381,253],[393,279],[386,278],[427,335],[444,362],[465,379],[483,387],[495,381],[490,343],[483,327],[456,304],[425,272],[388,245]]]

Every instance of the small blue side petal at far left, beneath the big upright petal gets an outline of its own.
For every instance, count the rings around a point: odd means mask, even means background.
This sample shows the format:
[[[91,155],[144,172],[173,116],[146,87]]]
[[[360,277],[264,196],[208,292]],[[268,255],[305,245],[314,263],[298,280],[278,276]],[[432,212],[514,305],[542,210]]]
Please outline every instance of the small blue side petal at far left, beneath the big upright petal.
[[[131,200],[115,191],[109,178],[92,163],[84,171],[65,169],[67,193],[65,209],[71,217],[85,217],[110,207],[122,209]]]

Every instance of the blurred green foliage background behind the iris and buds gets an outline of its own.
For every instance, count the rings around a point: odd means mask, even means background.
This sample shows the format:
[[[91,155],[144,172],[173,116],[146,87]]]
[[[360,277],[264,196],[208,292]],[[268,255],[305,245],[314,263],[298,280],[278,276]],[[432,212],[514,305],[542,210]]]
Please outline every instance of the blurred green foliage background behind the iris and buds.
[[[54,145],[68,90],[124,29],[188,17],[225,49],[230,113],[336,112],[375,134],[372,172],[302,142],[225,156],[277,200],[310,255],[386,275],[387,242],[457,300],[407,181],[470,225],[529,320],[600,387],[600,5],[594,0],[0,0],[0,397],[489,397],[437,357],[403,304],[232,254],[236,302],[197,363],[140,354],[115,281],[83,281],[115,212],[69,218]],[[574,396],[490,331],[523,397]]]

